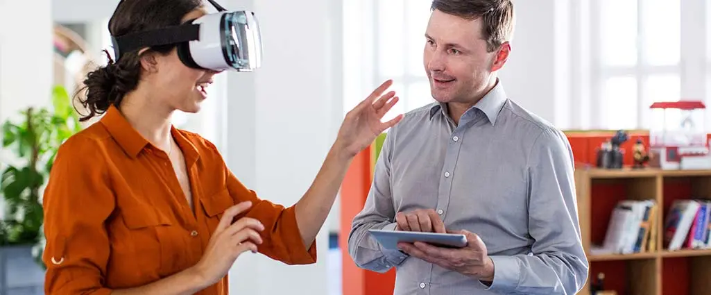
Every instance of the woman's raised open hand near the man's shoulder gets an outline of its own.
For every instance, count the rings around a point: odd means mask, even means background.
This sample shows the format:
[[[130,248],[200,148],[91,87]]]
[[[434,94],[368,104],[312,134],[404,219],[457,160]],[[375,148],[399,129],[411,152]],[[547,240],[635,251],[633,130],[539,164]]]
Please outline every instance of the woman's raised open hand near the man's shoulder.
[[[394,91],[383,95],[390,85],[392,85],[392,80],[383,82],[365,100],[351,109],[346,114],[346,119],[343,119],[336,144],[348,156],[353,157],[365,147],[370,146],[375,137],[378,137],[385,129],[395,126],[402,119],[402,114],[398,114],[390,121],[380,121],[399,100]]]

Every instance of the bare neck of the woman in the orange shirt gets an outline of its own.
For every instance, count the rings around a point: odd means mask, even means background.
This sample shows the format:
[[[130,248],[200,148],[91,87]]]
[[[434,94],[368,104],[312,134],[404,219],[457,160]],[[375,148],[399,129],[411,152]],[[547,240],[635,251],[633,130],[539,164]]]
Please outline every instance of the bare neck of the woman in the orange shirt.
[[[119,109],[141,136],[168,151],[172,144],[170,118],[173,111],[151,101],[149,94],[137,90],[124,97]]]

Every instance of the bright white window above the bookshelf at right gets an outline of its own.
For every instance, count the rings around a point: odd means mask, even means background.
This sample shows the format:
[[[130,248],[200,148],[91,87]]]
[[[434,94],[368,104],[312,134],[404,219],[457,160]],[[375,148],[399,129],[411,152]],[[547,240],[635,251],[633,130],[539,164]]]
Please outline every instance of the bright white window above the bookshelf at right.
[[[597,75],[591,81],[600,102],[597,125],[648,129],[655,123],[649,109],[653,102],[681,99],[680,1],[591,3],[592,27],[597,28],[591,44],[598,44],[592,50]]]

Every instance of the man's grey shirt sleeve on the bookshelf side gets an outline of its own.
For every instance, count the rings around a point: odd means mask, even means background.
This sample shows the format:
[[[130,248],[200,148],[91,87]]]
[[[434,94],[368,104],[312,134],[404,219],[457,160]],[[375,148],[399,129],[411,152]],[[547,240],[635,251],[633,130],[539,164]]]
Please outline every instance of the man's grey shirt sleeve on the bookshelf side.
[[[532,254],[492,256],[499,294],[576,294],[588,277],[582,247],[570,143],[562,132],[544,130],[528,166],[528,230]]]

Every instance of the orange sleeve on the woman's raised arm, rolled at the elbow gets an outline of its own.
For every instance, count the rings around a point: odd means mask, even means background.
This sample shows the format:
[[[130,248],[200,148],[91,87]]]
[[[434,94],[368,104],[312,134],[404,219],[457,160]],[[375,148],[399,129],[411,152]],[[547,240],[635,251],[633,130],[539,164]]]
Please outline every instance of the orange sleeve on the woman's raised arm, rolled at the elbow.
[[[311,243],[309,249],[304,247],[304,240],[296,223],[294,206],[285,208],[283,205],[262,200],[257,197],[255,191],[246,188],[226,167],[225,173],[227,173],[228,191],[235,199],[235,204],[247,200],[252,202],[252,208],[243,216],[260,220],[264,225],[264,231],[260,232],[262,245],[257,245],[260,253],[285,264],[316,262],[316,241]]]

